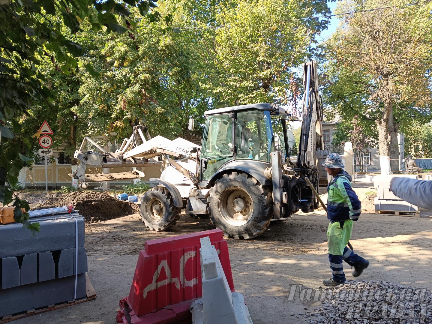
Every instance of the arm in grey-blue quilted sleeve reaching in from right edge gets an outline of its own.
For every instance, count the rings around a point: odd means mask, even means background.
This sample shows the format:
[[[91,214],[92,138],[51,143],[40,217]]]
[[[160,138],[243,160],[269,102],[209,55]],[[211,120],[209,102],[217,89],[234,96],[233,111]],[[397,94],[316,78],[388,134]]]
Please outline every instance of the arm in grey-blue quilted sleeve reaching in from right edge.
[[[432,181],[410,178],[393,178],[390,190],[400,199],[413,205],[432,209]]]

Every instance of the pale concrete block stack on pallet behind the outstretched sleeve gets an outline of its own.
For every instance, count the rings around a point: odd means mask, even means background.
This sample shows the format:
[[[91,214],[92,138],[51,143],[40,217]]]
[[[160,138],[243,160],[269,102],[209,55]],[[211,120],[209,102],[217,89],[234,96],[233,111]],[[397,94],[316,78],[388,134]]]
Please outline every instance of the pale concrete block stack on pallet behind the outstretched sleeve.
[[[375,211],[417,212],[419,208],[403,201],[390,191],[391,179],[405,177],[416,179],[416,175],[377,175],[374,178],[374,187],[377,188],[375,197]]]

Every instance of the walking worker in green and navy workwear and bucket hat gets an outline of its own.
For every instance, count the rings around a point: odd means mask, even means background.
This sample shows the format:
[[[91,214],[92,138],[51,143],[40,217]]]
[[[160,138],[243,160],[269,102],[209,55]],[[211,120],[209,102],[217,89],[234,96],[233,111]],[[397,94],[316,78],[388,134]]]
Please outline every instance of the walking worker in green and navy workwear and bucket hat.
[[[323,166],[333,176],[327,186],[327,228],[328,259],[330,261],[331,278],[324,279],[325,286],[337,286],[345,283],[342,261],[354,267],[353,276],[359,276],[369,265],[369,261],[355,254],[346,247],[353,231],[353,222],[359,219],[362,203],[351,187],[351,176],[343,170],[340,156],[331,153]]]

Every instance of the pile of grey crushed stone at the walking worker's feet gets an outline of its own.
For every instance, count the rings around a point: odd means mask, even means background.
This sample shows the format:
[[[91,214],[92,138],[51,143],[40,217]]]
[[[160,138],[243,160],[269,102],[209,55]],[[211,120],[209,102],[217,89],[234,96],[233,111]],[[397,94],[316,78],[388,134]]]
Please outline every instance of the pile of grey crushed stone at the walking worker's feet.
[[[308,323],[432,323],[432,292],[427,289],[374,280],[347,281],[321,292],[323,302],[315,308],[316,314],[305,316]]]

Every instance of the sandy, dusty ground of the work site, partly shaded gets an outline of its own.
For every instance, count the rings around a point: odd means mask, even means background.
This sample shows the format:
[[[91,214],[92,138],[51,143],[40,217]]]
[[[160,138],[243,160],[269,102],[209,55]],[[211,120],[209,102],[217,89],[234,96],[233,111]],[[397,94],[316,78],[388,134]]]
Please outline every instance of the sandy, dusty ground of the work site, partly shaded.
[[[290,313],[313,311],[317,304],[302,302],[298,290],[294,301],[288,296],[294,285],[318,288],[322,278],[329,276],[327,224],[323,211],[296,214],[253,240],[228,240],[235,289],[245,296],[255,324],[306,323]],[[145,241],[208,229],[213,229],[208,220],[187,215],[169,232],[146,230],[137,214],[90,224],[86,250],[97,299],[14,323],[115,323],[118,300],[129,293]],[[351,243],[371,262],[359,280],[382,279],[432,289],[432,218],[362,214]],[[349,280],[352,271],[345,268]]]

